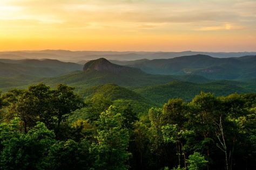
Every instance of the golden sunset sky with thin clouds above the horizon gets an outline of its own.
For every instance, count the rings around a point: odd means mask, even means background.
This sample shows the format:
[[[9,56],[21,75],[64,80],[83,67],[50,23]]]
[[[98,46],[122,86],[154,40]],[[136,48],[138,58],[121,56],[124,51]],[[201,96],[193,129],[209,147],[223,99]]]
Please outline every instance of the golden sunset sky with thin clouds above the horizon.
[[[256,51],[255,0],[0,0],[0,51]]]

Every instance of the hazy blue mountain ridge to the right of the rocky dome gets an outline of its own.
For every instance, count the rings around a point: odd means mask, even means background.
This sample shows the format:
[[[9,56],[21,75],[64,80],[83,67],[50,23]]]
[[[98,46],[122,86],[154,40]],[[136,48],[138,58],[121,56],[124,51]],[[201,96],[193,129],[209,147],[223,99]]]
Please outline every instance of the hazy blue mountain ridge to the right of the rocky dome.
[[[212,56],[199,54],[173,59],[112,62],[140,68],[151,74],[194,74],[217,80],[249,80],[256,78],[256,55],[239,58],[213,58]]]

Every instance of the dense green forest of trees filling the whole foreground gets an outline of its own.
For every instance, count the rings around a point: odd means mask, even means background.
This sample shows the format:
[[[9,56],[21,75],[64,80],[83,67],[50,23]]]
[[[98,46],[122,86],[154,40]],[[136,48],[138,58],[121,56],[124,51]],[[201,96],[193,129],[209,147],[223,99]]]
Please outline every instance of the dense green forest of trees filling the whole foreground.
[[[100,88],[85,99],[64,84],[2,93],[0,168],[255,169],[256,94],[201,92],[159,107]]]

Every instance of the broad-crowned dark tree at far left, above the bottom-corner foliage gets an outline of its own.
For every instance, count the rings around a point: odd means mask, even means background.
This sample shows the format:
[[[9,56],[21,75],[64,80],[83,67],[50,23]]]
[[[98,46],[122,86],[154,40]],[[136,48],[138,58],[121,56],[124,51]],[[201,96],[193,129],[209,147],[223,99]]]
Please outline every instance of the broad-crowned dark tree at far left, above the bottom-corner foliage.
[[[24,123],[24,131],[33,127],[37,121],[44,122],[52,129],[53,101],[50,87],[40,83],[30,86],[28,90],[11,90],[3,97],[8,103],[9,116],[6,119],[20,117]]]

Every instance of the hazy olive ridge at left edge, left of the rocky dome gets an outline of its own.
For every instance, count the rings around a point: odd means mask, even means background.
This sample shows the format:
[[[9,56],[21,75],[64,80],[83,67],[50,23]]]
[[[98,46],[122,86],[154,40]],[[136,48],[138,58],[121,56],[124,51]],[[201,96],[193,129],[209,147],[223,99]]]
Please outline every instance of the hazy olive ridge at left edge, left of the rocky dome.
[[[0,59],[0,88],[5,90],[26,86],[42,77],[56,77],[82,68],[77,63],[50,59]]]

